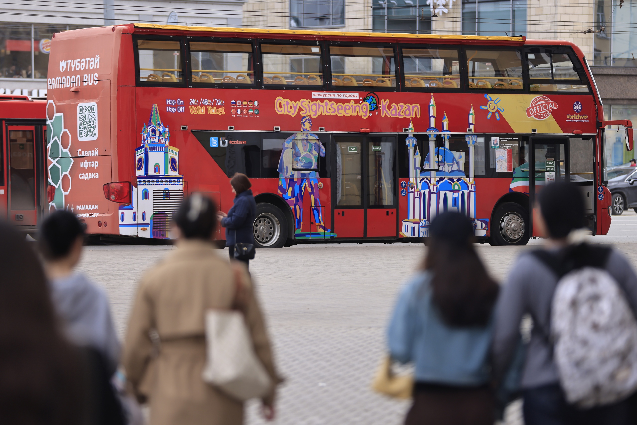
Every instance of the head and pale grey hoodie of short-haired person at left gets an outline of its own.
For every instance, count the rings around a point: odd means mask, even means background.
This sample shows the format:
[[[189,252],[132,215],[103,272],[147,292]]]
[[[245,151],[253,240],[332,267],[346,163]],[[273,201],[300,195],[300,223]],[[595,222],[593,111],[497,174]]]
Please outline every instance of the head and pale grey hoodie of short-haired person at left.
[[[115,372],[121,345],[106,292],[83,273],[74,273],[82,257],[84,229],[68,211],[52,213],[40,226],[38,245],[45,259],[51,298],[64,333],[81,347],[97,349]]]

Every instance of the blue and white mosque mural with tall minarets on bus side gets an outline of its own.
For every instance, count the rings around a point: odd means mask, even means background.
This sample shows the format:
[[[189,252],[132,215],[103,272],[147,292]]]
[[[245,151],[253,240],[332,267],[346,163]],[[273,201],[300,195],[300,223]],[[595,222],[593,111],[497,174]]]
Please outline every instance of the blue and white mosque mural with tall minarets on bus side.
[[[406,238],[422,238],[429,236],[429,223],[436,215],[453,211],[459,212],[473,220],[475,236],[486,236],[489,227],[488,219],[476,219],[476,192],[473,178],[474,154],[473,146],[476,136],[473,134],[475,114],[473,105],[469,111],[469,132],[466,141],[469,147],[469,176],[464,172],[464,152],[449,150],[451,136],[449,120],[445,113],[442,129],[436,128],[436,102],[433,94],[429,102],[429,152],[434,152],[433,164],[427,154],[422,161],[417,140],[413,136],[415,130],[410,122],[409,133],[405,140],[408,148],[409,180],[401,182],[401,193],[407,196],[407,219],[401,222],[400,234]],[[436,148],[436,134],[441,133],[445,141],[444,147]]]

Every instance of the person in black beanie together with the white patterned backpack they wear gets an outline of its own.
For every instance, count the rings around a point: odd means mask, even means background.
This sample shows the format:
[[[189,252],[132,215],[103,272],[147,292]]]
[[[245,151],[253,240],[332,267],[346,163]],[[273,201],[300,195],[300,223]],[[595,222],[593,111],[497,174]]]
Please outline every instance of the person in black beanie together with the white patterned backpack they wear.
[[[584,201],[557,182],[538,196],[545,249],[522,254],[496,307],[496,377],[509,367],[520,319],[533,319],[520,387],[526,425],[627,425],[637,389],[637,277],[617,250],[578,239]]]

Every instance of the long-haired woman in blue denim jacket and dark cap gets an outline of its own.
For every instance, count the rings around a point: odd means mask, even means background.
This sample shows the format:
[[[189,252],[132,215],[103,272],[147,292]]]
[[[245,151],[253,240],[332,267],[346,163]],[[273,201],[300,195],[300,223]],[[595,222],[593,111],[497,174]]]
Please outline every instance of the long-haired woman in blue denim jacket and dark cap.
[[[443,213],[429,232],[422,270],[401,290],[387,331],[392,360],[415,364],[405,424],[492,425],[488,359],[499,288],[473,248],[467,217]]]

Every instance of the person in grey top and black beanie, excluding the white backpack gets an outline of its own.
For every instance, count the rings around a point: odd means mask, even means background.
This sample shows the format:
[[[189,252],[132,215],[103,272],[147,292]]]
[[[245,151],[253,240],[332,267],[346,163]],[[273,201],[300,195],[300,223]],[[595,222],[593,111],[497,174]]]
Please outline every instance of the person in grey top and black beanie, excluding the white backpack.
[[[540,214],[536,226],[548,236],[545,249],[561,256],[571,245],[576,229],[583,227],[584,206],[579,189],[569,183],[547,185],[539,194]],[[637,311],[637,277],[626,257],[611,250],[605,270],[615,278],[626,295],[631,310]],[[559,384],[551,343],[551,306],[558,277],[531,252],[514,264],[496,305],[493,354],[496,377],[503,377],[512,363],[519,342],[520,321],[525,314],[533,319],[520,387],[524,399],[526,425],[627,424],[626,401],[580,410],[569,405]]]

